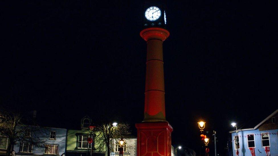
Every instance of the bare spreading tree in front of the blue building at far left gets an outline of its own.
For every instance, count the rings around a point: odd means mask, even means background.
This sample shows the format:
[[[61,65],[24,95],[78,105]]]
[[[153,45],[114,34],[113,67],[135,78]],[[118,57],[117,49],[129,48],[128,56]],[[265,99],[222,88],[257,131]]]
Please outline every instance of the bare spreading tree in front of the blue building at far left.
[[[0,134],[8,138],[7,156],[17,143],[28,143],[31,148],[45,148],[47,130],[35,124],[23,124],[23,121],[30,123],[30,119],[19,113],[0,110]]]

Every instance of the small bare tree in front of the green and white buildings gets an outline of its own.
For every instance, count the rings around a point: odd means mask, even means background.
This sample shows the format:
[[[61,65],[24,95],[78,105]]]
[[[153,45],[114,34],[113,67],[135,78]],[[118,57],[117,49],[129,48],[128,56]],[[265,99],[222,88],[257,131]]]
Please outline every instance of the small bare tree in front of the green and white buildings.
[[[124,138],[124,136],[130,134],[130,126],[126,123],[117,124],[117,126],[113,126],[112,123],[105,123],[96,126],[95,134],[96,137],[94,142],[96,144],[96,148],[100,151],[105,151],[107,156],[110,155],[110,140],[115,138]]]

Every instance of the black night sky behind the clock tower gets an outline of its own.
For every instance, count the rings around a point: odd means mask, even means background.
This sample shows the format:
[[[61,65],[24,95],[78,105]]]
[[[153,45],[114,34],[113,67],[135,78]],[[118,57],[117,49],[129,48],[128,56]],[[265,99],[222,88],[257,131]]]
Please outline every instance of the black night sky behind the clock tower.
[[[144,113],[143,1],[0,3],[1,105],[37,110],[42,125],[74,128],[89,115],[128,122],[136,134]],[[231,121],[259,123],[277,109],[277,20],[265,3],[168,1],[173,145],[198,153],[203,118],[225,155]]]

